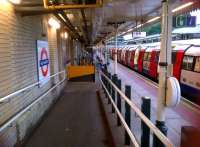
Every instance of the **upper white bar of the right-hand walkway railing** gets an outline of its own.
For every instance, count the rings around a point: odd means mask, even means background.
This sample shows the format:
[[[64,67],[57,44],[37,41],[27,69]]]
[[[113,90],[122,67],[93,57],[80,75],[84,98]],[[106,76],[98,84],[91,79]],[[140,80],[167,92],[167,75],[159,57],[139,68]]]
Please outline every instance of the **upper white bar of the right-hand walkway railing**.
[[[115,84],[104,74],[101,74],[111,83],[111,85],[117,90],[117,92],[123,97],[123,99],[131,106],[131,108],[137,113],[137,115],[146,123],[146,125],[153,131],[153,133],[160,139],[160,141],[167,147],[174,147],[171,141],[140,111],[140,109],[129,100],[126,95],[121,92]]]

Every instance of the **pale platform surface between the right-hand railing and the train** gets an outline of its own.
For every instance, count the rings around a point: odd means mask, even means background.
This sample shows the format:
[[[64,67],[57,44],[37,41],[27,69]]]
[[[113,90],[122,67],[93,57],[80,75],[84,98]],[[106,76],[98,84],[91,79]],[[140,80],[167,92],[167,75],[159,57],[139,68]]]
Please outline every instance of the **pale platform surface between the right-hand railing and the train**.
[[[110,60],[108,67],[113,74],[113,61]],[[122,80],[122,89],[124,91],[125,84],[131,85],[132,101],[140,108],[141,97],[148,96],[151,98],[151,120],[155,124],[157,110],[158,87],[150,81],[142,79],[136,72],[118,63],[118,77]],[[125,113],[124,101],[122,101],[122,113]],[[181,127],[193,126],[200,129],[200,111],[193,110],[191,106],[187,106],[181,102],[175,108],[166,109],[166,125],[168,127],[168,137],[176,147],[180,146]],[[141,135],[141,121],[134,112],[131,113],[131,130],[134,132],[138,140]]]

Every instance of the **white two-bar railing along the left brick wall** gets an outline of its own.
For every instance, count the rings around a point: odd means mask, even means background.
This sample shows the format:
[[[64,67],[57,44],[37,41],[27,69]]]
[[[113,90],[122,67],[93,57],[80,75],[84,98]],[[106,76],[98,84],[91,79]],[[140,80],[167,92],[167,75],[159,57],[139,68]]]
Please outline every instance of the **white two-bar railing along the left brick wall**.
[[[13,117],[11,117],[8,121],[6,121],[3,125],[0,126],[0,132],[2,132],[5,128],[9,127],[12,125],[12,123],[18,119],[22,114],[24,114],[26,111],[30,110],[30,108],[32,106],[34,106],[36,103],[38,103],[39,101],[41,101],[43,98],[45,98],[45,96],[47,96],[52,90],[54,90],[58,85],[60,85],[61,83],[63,83],[66,80],[66,75],[65,75],[65,70],[58,72],[54,75],[49,76],[49,78],[53,78],[57,75],[63,74],[63,79],[61,81],[59,81],[58,83],[56,83],[56,85],[54,85],[53,87],[51,87],[49,90],[47,90],[45,93],[43,93],[41,96],[39,96],[38,98],[36,98],[32,103],[30,103],[29,105],[27,105],[23,110],[21,110],[20,112],[18,112],[17,114],[15,114]],[[34,84],[31,84],[25,88],[22,88],[14,93],[11,93],[3,98],[0,99],[1,103],[6,103],[8,102],[13,96],[18,95],[26,90],[29,90],[35,86],[40,85],[42,82],[45,82],[47,80],[43,80],[43,81],[39,81],[36,82]]]

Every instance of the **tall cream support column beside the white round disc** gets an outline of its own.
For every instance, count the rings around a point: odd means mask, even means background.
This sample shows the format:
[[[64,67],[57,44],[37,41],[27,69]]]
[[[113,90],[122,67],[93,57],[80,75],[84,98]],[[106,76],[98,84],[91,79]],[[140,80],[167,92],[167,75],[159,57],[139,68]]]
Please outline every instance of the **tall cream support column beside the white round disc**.
[[[171,64],[171,31],[172,31],[172,11],[169,0],[162,1],[162,33],[161,33],[161,51],[159,62],[159,91],[157,102],[157,120],[156,126],[167,135],[165,125],[165,101],[166,101],[166,80],[170,74],[168,65]],[[154,135],[154,147],[164,147],[164,145]]]

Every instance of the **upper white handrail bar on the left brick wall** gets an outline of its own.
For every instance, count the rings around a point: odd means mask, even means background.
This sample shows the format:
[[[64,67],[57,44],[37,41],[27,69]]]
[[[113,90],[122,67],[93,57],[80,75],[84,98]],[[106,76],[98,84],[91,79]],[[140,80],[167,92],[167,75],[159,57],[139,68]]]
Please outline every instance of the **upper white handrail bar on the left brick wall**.
[[[59,75],[59,74],[61,74],[61,73],[65,73],[65,70],[60,71],[60,72],[58,72],[58,73],[56,73],[56,74],[54,74],[54,75],[48,76],[47,78],[55,77],[55,76],[57,76],[57,75]],[[64,76],[65,76],[65,75],[64,75]],[[47,81],[47,80],[38,81],[38,82],[33,83],[33,84],[31,84],[31,85],[29,85],[29,86],[27,86],[27,87],[25,87],[25,88],[22,88],[22,89],[20,89],[20,90],[17,90],[17,91],[15,91],[15,92],[11,93],[11,94],[8,94],[7,96],[4,96],[4,97],[0,98],[0,104],[1,104],[1,103],[5,103],[5,102],[9,102],[9,100],[10,100],[11,97],[13,97],[13,96],[15,96],[15,95],[18,95],[19,93],[22,93],[22,92],[24,92],[24,91],[26,91],[26,90],[29,90],[29,89],[31,89],[31,88],[33,88],[33,87],[35,87],[35,86],[38,86],[38,85],[40,85],[41,83],[43,83],[43,82],[45,82],[45,81]]]

